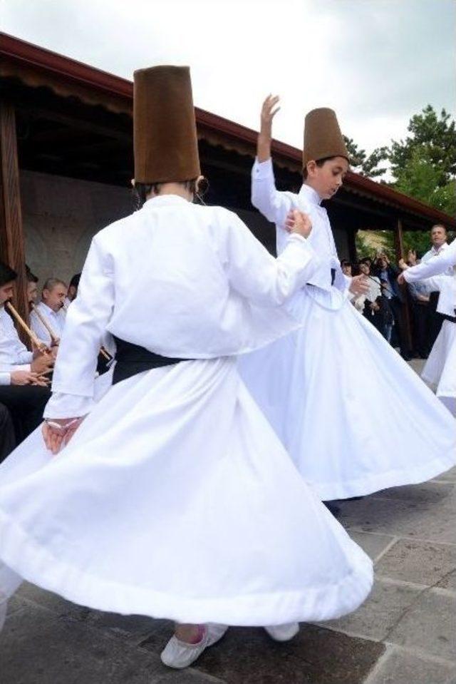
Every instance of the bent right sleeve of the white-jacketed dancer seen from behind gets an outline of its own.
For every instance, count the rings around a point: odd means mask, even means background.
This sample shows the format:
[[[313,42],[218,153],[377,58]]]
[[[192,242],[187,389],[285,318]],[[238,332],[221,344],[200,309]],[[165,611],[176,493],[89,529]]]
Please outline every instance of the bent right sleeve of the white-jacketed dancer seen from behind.
[[[229,212],[226,220],[224,267],[234,290],[258,306],[275,307],[306,285],[318,259],[301,235],[290,235],[274,259],[237,215]]]

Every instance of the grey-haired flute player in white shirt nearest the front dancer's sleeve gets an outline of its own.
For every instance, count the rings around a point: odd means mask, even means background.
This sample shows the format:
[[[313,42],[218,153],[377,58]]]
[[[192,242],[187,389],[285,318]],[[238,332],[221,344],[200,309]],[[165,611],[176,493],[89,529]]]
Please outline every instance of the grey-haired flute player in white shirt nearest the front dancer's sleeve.
[[[65,312],[63,304],[65,303],[68,287],[63,280],[58,278],[48,278],[43,285],[43,292],[41,294],[41,302],[36,305],[36,310],[33,310],[30,315],[30,327],[35,333],[38,340],[51,347],[60,340],[65,327]],[[44,325],[42,319],[46,320],[49,328],[53,331],[55,338],[51,337],[51,333]]]

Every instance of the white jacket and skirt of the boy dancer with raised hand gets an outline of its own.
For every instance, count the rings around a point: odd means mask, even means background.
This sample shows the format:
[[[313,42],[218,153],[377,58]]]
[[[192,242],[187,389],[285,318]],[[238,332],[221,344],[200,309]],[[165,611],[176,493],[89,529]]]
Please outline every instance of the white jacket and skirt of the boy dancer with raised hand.
[[[455,421],[348,300],[326,210],[303,185],[278,192],[269,162],[254,165],[252,203],[276,223],[309,213],[320,265],[289,302],[301,328],[239,359],[252,396],[304,479],[323,500],[425,481],[456,461]],[[330,269],[336,269],[331,287]]]

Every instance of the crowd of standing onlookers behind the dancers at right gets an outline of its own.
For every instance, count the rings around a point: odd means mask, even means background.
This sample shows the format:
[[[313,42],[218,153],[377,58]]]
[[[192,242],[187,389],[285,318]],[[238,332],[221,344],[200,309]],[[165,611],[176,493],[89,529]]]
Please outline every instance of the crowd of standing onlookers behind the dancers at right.
[[[398,275],[407,266],[414,266],[420,260],[427,261],[447,248],[447,233],[442,225],[435,225],[430,232],[432,247],[424,255],[409,250],[405,260],[398,264],[390,261],[385,252],[374,257],[365,257],[356,264],[341,261],[345,275],[363,273],[371,287],[366,295],[357,295],[351,302],[388,340],[400,350],[405,359],[420,357],[426,359],[440,332],[442,317],[436,312],[439,293],[432,292],[425,282],[410,283],[405,287],[398,284]],[[447,274],[452,275],[452,274]],[[412,344],[407,332],[407,315],[403,306],[408,300],[412,329]]]

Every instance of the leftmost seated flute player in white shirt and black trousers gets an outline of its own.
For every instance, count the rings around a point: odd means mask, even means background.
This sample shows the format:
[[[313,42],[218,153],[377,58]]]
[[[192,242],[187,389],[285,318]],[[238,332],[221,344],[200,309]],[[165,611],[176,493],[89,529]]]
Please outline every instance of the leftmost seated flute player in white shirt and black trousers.
[[[53,355],[41,349],[29,352],[19,340],[5,308],[16,277],[14,270],[0,262],[0,403],[9,409],[19,444],[41,423],[51,396],[45,374],[53,366]]]

